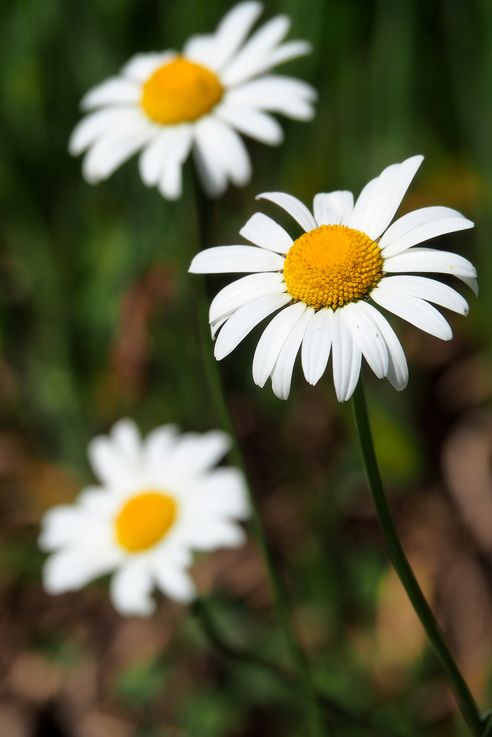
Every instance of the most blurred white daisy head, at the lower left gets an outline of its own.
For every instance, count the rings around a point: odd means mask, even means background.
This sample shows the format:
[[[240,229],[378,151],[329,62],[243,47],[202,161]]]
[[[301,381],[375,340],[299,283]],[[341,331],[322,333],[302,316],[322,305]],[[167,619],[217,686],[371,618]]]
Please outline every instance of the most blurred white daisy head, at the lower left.
[[[151,614],[154,587],[192,600],[191,551],[244,540],[243,476],[214,468],[229,444],[222,432],[179,435],[172,425],[142,439],[131,420],[92,440],[89,459],[100,485],[42,521],[39,544],[52,553],[43,570],[46,590],[73,591],[114,572],[111,599],[122,614]]]

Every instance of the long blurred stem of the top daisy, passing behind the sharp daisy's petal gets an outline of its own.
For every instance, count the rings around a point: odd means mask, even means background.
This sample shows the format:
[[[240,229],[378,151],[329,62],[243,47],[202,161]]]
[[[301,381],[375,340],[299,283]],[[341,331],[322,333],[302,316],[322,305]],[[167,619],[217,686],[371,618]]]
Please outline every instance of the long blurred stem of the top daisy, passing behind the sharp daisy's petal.
[[[197,209],[197,220],[198,227],[200,230],[200,240],[203,246],[209,246],[212,244],[212,233],[211,233],[211,221],[213,218],[213,203],[207,200],[200,188],[200,185],[195,180],[195,202]],[[273,602],[277,615],[277,619],[282,630],[283,638],[286,647],[290,654],[292,665],[295,668],[297,677],[299,679],[300,686],[303,692],[303,701],[306,713],[306,720],[308,724],[309,733],[312,737],[323,737],[326,734],[325,725],[323,723],[322,714],[319,709],[317,701],[316,690],[311,677],[309,666],[301,649],[299,642],[294,635],[291,618],[290,618],[290,607],[287,591],[284,586],[284,582],[279,574],[278,567],[273,559],[272,552],[267,542],[267,536],[261,514],[256,502],[255,496],[252,491],[252,485],[250,483],[248,470],[244,461],[239,443],[236,439],[236,432],[234,423],[229,412],[229,408],[224,396],[222,387],[222,381],[220,372],[218,369],[217,361],[213,357],[209,338],[208,329],[208,308],[207,299],[205,293],[205,283],[202,282],[201,287],[201,300],[200,300],[200,328],[202,331],[201,342],[202,342],[202,353],[205,363],[205,371],[207,380],[210,386],[210,390],[213,394],[214,404],[217,410],[219,420],[223,428],[233,437],[236,442],[231,450],[231,460],[237,465],[244,473],[246,478],[250,507],[251,507],[251,521],[253,533],[256,541],[260,548],[265,567],[267,569],[270,587],[272,589]],[[331,734],[333,734],[331,727],[329,727]]]

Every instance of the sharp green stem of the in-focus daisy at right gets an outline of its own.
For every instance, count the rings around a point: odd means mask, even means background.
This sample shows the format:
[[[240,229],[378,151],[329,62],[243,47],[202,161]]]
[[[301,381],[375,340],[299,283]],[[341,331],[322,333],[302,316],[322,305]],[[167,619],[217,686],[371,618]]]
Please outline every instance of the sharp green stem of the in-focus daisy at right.
[[[374,450],[374,442],[369,423],[362,379],[359,379],[359,383],[354,392],[353,408],[367,480],[369,482],[379,522],[383,530],[390,560],[401,583],[403,584],[403,587],[405,588],[405,591],[407,592],[415,613],[422,623],[428,640],[441,662],[446,673],[448,683],[454,692],[456,701],[458,702],[458,707],[465,722],[467,723],[471,733],[475,737],[480,737],[484,729],[484,724],[480,717],[478,707],[455,659],[449,651],[441,628],[439,627],[432,610],[422,593],[417,579],[415,578],[391,517]]]

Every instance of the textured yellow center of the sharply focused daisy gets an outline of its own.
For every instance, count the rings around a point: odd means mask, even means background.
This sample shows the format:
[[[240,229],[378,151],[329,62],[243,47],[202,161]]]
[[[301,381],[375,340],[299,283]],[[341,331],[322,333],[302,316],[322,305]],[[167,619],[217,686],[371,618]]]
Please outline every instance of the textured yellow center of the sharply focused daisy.
[[[343,307],[367,297],[382,276],[381,249],[346,225],[320,225],[300,236],[284,264],[289,294],[310,307]]]

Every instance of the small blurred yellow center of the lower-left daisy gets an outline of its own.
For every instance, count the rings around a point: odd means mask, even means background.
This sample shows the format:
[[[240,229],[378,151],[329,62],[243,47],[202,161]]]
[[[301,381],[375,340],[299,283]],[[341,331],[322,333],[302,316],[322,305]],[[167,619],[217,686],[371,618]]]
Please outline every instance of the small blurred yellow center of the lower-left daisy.
[[[115,520],[116,539],[130,553],[155,545],[169,532],[177,516],[177,505],[168,494],[144,491],[129,499]]]

